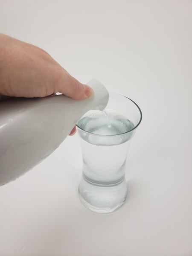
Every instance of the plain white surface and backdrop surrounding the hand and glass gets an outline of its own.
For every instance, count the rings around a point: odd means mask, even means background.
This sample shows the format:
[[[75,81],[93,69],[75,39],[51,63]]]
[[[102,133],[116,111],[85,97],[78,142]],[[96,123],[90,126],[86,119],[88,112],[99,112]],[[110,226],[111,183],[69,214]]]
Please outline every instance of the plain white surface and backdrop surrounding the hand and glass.
[[[0,256],[192,256],[192,1],[1,0],[0,32],[143,112],[123,207],[81,204],[81,148],[67,137],[0,187]]]

